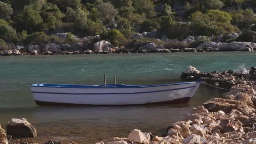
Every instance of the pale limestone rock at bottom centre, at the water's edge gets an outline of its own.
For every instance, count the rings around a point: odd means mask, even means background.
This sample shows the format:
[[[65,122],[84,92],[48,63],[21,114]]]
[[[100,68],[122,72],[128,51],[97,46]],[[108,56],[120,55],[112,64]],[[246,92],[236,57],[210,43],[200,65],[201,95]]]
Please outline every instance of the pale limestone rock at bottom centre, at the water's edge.
[[[131,133],[128,135],[128,139],[131,142],[149,144],[149,141],[147,140],[145,135],[138,129],[133,129]]]

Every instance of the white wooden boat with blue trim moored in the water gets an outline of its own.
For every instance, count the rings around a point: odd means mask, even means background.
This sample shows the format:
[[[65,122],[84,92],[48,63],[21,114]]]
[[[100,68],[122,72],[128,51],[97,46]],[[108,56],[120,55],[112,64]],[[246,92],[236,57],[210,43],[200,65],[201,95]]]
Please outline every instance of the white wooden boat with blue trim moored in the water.
[[[188,103],[201,81],[163,85],[34,84],[31,91],[38,105],[177,104]]]

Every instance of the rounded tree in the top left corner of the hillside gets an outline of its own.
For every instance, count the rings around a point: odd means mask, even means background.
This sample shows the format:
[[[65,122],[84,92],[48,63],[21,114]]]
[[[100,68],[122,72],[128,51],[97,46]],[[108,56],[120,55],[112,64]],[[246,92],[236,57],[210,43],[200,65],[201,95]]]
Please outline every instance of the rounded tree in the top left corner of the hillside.
[[[0,1],[0,19],[9,20],[11,19],[12,14],[13,9],[11,8],[11,5]]]

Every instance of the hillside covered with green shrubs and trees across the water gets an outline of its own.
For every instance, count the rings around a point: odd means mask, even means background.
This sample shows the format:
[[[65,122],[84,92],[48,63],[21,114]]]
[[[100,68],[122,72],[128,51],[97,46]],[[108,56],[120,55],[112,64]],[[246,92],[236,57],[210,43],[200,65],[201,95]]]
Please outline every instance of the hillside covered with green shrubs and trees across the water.
[[[220,35],[220,42],[255,43],[255,11],[256,0],[0,0],[0,51],[49,43],[82,43],[85,50],[101,40],[195,48]]]

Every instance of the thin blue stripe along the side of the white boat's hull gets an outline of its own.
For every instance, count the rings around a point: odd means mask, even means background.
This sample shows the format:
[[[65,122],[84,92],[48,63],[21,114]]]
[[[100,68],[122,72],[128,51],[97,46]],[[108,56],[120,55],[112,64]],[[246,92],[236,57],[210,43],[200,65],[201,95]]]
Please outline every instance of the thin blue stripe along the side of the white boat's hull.
[[[32,93],[47,93],[47,94],[70,94],[70,95],[106,95],[106,94],[139,94],[139,93],[157,93],[163,91],[176,91],[187,88],[195,88],[196,86],[189,86],[184,88],[174,88],[168,90],[159,90],[159,91],[144,91],[144,92],[134,92],[134,93],[55,93],[55,92],[41,92],[41,91],[32,91]]]

